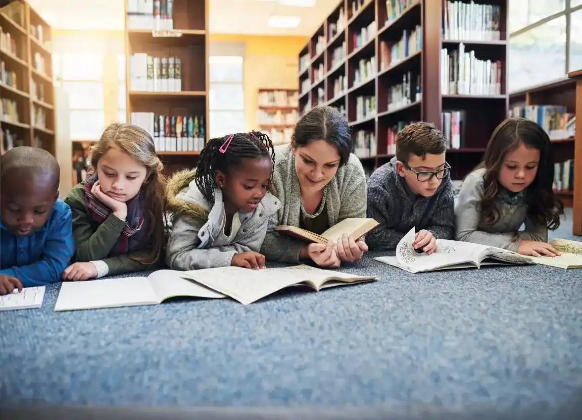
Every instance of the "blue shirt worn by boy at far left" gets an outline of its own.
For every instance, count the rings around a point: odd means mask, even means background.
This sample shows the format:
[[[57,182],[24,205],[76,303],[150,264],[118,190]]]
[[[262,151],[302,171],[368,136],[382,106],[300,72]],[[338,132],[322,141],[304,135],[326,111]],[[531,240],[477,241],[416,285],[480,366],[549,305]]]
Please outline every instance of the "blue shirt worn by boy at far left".
[[[74,252],[71,209],[56,200],[47,222],[29,236],[16,236],[0,223],[0,274],[16,277],[23,287],[61,280]]]

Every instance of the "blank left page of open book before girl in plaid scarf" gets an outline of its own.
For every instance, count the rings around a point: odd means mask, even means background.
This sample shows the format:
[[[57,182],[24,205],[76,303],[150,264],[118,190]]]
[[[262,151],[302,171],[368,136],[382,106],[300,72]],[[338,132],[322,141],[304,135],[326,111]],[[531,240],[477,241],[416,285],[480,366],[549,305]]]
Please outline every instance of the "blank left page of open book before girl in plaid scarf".
[[[158,297],[145,277],[63,282],[55,311],[157,305]]]

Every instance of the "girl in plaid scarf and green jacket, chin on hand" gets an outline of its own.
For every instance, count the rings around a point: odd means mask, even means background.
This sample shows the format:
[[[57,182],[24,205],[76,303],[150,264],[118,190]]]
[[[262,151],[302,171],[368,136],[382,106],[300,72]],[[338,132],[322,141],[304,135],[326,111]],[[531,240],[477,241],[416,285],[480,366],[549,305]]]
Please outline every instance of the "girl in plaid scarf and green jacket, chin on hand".
[[[90,149],[91,173],[65,202],[73,215],[74,264],[64,280],[144,270],[163,261],[165,178],[150,134],[112,123]]]

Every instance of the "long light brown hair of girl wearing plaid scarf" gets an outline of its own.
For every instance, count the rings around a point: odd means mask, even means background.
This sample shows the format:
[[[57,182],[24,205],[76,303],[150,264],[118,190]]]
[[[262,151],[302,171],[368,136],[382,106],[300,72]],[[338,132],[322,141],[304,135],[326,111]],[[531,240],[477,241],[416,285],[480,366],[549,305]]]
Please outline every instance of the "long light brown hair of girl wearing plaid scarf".
[[[136,257],[143,264],[155,264],[162,257],[165,245],[164,211],[166,195],[164,165],[155,152],[154,141],[144,129],[133,124],[112,123],[103,131],[99,141],[90,148],[91,166],[97,170],[97,162],[111,147],[118,147],[147,168],[147,176],[141,186],[145,193],[144,216],[148,218],[153,246],[145,257]]]

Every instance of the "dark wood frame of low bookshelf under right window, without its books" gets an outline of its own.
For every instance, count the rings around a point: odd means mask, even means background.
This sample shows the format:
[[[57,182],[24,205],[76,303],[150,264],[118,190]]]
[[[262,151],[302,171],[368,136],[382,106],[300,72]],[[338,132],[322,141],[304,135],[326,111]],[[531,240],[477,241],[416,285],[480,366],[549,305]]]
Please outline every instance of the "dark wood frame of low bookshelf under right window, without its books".
[[[509,94],[509,115],[513,115],[514,109],[525,106],[559,105],[565,106],[566,112],[576,113],[576,81],[567,77],[550,83],[531,86],[526,89],[511,92]],[[546,127],[547,128],[547,127]],[[552,151],[555,162],[565,162],[574,159],[574,137],[552,135]],[[556,190],[566,207],[573,206],[574,184],[567,188]]]

